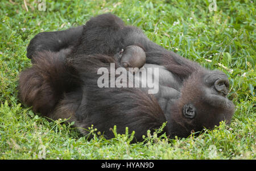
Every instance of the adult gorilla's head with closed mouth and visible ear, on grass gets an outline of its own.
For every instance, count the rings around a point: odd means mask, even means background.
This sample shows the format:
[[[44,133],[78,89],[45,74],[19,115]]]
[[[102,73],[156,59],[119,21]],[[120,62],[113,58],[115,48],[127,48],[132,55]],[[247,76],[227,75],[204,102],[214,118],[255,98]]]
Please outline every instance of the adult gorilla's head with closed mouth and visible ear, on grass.
[[[192,130],[212,129],[222,120],[229,123],[234,105],[226,97],[228,86],[223,72],[200,70],[193,73],[184,82],[181,97],[171,107],[171,135],[187,137]]]

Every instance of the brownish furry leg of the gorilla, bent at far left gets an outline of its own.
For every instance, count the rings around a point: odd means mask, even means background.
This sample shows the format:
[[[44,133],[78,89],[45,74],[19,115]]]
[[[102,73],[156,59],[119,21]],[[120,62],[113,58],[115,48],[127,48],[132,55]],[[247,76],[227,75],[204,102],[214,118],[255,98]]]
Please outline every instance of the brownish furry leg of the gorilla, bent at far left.
[[[19,98],[34,112],[48,116],[64,92],[79,87],[79,74],[65,61],[66,50],[37,52],[32,67],[20,73]]]

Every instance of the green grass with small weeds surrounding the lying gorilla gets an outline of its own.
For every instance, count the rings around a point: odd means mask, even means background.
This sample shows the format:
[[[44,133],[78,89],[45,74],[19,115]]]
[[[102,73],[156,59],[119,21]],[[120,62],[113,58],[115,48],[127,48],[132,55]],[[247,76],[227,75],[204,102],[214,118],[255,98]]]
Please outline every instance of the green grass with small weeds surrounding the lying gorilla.
[[[0,2],[0,159],[256,159],[255,1],[217,1],[217,11],[209,11],[207,0],[46,0],[46,11],[38,1],[26,2],[27,10],[23,1]],[[127,135],[88,141],[63,120],[48,122],[21,105],[16,86],[19,72],[31,65],[26,47],[32,37],[105,12],[159,45],[228,74],[237,109],[232,123],[186,139],[151,132],[144,143],[130,144]]]

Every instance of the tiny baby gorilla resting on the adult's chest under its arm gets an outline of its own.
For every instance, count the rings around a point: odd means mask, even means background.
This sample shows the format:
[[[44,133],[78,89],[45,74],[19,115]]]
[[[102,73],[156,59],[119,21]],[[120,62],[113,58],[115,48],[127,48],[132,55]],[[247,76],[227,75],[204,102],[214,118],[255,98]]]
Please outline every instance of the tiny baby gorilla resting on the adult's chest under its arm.
[[[146,63],[146,53],[137,45],[129,45],[115,55],[115,59],[123,68],[133,68],[136,73]]]

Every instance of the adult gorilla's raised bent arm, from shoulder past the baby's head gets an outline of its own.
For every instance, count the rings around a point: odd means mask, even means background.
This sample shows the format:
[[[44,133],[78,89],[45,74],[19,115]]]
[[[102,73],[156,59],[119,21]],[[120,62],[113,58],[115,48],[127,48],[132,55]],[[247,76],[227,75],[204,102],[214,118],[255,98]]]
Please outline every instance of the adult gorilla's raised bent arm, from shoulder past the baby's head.
[[[112,55],[129,45],[138,45],[146,52],[147,64],[165,66],[181,81],[201,68],[195,62],[150,41],[139,28],[125,26],[122,20],[113,14],[98,15],[86,22],[75,56],[95,53]]]

